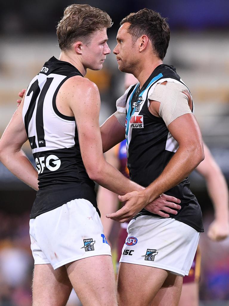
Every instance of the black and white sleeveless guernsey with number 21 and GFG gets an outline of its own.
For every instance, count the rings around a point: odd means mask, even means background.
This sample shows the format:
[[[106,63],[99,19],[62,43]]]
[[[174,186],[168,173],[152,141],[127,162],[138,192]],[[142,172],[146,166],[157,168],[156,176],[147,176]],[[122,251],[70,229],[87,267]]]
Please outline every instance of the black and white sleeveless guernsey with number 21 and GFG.
[[[56,107],[61,85],[77,75],[82,76],[73,65],[52,57],[25,94],[23,120],[39,180],[31,218],[79,198],[89,200],[99,213],[95,184],[80,154],[75,118],[61,114]]]

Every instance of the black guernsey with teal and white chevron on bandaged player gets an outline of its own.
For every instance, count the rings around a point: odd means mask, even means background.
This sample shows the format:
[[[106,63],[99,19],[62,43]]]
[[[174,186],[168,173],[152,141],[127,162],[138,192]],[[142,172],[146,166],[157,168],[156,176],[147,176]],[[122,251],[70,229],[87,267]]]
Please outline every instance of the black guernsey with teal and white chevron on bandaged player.
[[[148,97],[155,86],[164,81],[184,84],[173,66],[162,64],[153,71],[140,92],[138,83],[130,88],[126,97],[128,169],[130,179],[144,187],[150,185],[162,173],[178,149],[178,143],[169,133],[163,119],[155,117],[148,110]],[[181,210],[177,215],[170,217],[186,223],[198,232],[203,232],[201,208],[189,185],[186,178],[165,192],[181,200]],[[154,214],[143,209],[137,216],[140,215]]]

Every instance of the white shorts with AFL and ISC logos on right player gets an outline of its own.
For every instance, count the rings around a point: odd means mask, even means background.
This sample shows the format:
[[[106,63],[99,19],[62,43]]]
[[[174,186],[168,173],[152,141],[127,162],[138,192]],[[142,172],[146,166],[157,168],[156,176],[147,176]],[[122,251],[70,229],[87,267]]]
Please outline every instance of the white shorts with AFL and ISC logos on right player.
[[[129,222],[127,232],[120,263],[188,275],[200,235],[194,228],[173,218],[140,216]]]

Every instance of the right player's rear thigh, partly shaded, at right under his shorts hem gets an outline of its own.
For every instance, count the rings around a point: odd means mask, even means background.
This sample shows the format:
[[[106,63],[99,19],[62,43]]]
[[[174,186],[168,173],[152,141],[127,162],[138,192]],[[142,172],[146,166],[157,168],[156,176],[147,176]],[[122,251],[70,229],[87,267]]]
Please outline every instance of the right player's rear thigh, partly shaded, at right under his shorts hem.
[[[177,306],[180,300],[182,282],[182,276],[170,273],[150,306]]]

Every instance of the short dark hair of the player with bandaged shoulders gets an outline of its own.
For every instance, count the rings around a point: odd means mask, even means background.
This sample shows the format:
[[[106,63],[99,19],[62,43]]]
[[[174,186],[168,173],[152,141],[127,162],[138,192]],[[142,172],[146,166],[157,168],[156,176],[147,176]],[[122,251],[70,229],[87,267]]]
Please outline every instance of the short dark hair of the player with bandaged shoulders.
[[[133,42],[136,42],[140,36],[147,35],[156,55],[163,60],[170,39],[170,29],[167,19],[152,9],[141,9],[123,18],[120,25],[125,22],[130,23],[128,32],[132,35]]]

